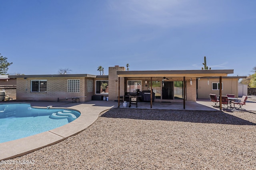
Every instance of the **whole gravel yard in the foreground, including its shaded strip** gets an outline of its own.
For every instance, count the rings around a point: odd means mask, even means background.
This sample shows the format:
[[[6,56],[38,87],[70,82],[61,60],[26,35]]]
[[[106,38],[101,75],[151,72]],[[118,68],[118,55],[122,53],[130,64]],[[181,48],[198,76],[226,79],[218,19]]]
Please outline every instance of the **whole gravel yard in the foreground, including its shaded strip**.
[[[78,135],[8,161],[0,169],[256,170],[256,112],[111,109]]]

